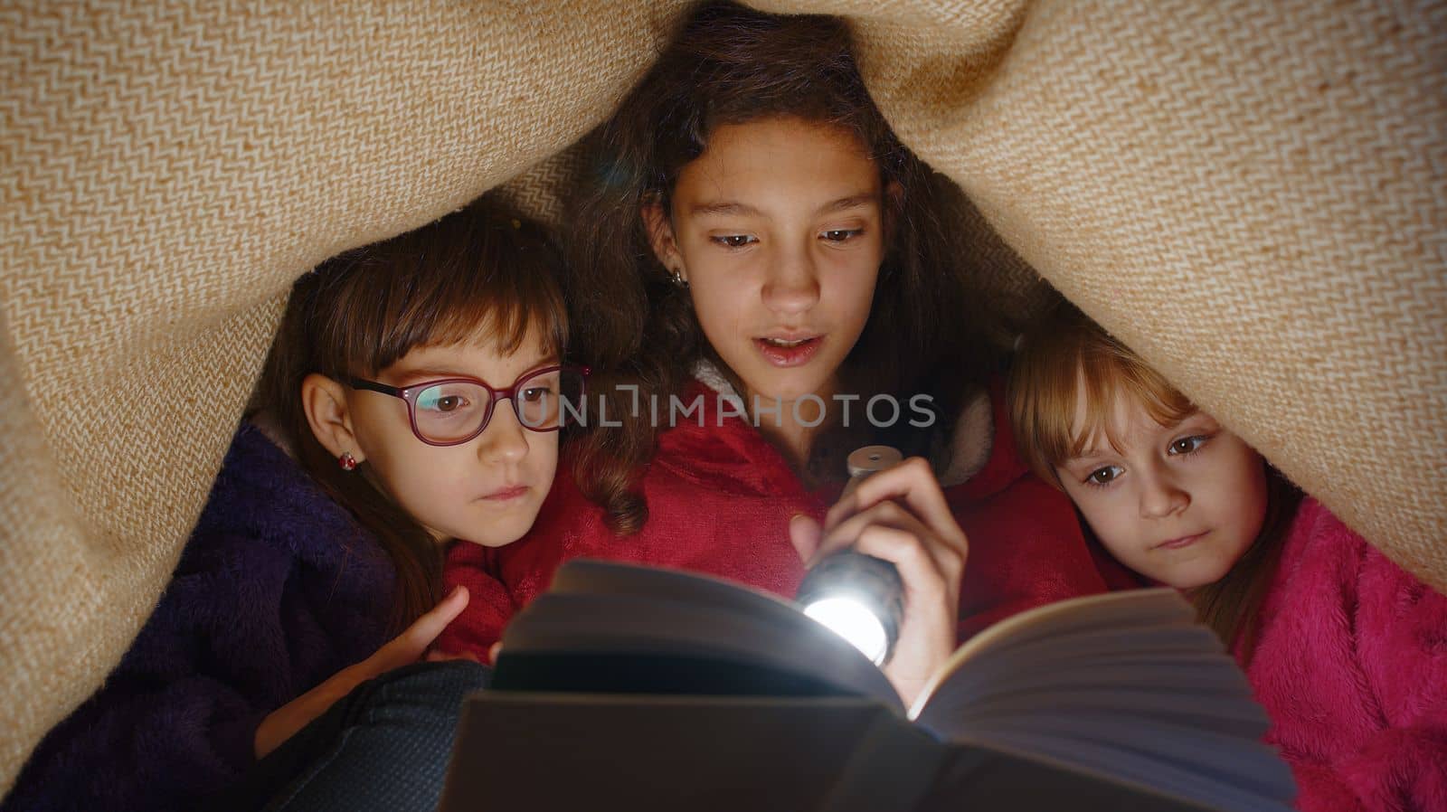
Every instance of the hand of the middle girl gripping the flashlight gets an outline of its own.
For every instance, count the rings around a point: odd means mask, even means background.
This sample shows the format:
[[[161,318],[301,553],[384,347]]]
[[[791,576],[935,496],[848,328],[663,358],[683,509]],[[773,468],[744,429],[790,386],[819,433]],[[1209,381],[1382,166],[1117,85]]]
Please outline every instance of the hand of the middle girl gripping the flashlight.
[[[955,650],[959,578],[969,544],[929,463],[910,457],[860,482],[829,508],[825,524],[800,515],[789,525],[794,549],[813,566],[845,549],[893,562],[904,582],[904,621],[884,666],[904,705]]]

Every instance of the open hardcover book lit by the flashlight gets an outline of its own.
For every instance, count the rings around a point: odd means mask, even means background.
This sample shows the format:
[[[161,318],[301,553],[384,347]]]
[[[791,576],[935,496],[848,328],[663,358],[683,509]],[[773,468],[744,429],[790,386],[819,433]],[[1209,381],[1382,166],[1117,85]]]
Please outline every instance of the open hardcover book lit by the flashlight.
[[[467,701],[441,809],[1286,811],[1266,725],[1168,589],[996,624],[906,709],[789,601],[574,560]]]

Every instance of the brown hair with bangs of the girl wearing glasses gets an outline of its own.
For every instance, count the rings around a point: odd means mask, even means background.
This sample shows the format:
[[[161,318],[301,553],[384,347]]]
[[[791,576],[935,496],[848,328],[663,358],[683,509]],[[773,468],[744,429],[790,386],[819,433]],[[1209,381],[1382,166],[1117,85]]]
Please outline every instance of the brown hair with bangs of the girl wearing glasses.
[[[441,549],[368,475],[344,472],[301,404],[310,373],[373,378],[414,347],[491,331],[505,353],[535,330],[561,358],[560,262],[541,229],[483,198],[428,226],[323,262],[292,287],[253,407],[276,420],[301,466],[370,531],[396,570],[401,628],[441,598]]]

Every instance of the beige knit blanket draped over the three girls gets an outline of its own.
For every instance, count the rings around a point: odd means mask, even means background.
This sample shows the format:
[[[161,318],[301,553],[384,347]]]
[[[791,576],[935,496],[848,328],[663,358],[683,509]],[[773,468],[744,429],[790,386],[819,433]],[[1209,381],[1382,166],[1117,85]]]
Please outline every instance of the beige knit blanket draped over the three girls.
[[[289,282],[559,153],[686,9],[246,6],[0,3],[0,792],[155,605]],[[1001,307],[1035,268],[1447,586],[1441,4],[764,7],[854,20]]]

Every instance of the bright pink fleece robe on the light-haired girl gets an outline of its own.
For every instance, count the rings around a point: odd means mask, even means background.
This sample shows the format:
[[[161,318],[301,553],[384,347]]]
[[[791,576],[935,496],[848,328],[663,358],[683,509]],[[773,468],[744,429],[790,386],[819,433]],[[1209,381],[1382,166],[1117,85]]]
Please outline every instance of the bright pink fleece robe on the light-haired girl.
[[[1247,676],[1302,812],[1447,812],[1447,598],[1305,499]]]

